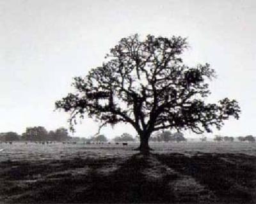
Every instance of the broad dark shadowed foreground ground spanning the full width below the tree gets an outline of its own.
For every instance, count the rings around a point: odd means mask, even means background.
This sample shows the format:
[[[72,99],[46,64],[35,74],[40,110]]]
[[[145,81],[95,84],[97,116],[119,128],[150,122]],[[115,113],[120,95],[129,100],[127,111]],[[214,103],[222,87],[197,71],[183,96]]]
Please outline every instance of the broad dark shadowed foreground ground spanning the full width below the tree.
[[[157,163],[158,162],[158,163]],[[127,160],[0,163],[4,203],[254,203],[256,157],[245,154],[134,154]],[[161,177],[148,179],[154,165]],[[166,168],[167,167],[167,168]],[[102,171],[105,170],[105,171]],[[163,171],[163,172],[162,172]],[[153,174],[154,175],[154,174]],[[177,194],[195,180],[204,191]],[[194,184],[195,185],[195,184]],[[197,184],[196,184],[197,185]],[[179,188],[180,185],[178,185]],[[183,187],[183,190],[184,191]],[[204,194],[204,195],[203,195]],[[205,194],[208,196],[205,196]],[[177,196],[178,195],[178,196]],[[214,195],[214,196],[212,196]],[[204,196],[204,200],[201,197]]]

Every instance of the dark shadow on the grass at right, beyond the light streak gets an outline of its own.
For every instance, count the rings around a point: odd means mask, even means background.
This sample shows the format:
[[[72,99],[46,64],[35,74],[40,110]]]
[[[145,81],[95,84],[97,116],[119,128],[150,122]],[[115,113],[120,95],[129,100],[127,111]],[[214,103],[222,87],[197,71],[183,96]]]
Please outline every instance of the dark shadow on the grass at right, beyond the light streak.
[[[195,178],[211,189],[217,198],[228,203],[255,203],[256,157],[246,154],[211,154],[198,152],[157,155],[173,170]]]

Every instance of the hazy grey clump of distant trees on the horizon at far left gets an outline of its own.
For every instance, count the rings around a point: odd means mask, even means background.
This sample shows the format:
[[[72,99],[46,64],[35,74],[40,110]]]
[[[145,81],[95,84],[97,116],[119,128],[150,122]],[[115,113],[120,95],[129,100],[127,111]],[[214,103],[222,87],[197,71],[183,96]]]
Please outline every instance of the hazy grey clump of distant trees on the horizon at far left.
[[[47,131],[42,126],[26,128],[25,133],[19,135],[15,132],[0,133],[1,142],[9,141],[65,141],[70,140],[68,130],[66,128],[58,128],[56,130]]]

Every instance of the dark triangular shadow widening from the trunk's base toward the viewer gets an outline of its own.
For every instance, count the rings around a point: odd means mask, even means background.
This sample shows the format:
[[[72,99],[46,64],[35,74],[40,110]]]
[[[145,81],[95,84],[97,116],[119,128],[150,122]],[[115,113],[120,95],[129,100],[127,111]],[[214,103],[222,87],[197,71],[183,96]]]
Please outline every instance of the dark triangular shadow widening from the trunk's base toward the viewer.
[[[92,186],[72,200],[75,203],[163,203],[173,201],[172,194],[166,191],[168,179],[147,180],[143,170],[150,168],[147,158],[152,155],[134,154],[106,177],[91,175]]]

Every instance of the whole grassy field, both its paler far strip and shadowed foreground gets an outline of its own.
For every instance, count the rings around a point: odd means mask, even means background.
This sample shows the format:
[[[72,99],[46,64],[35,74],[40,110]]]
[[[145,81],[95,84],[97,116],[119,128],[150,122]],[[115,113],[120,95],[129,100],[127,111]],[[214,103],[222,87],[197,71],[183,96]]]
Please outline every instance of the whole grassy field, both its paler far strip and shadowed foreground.
[[[255,143],[0,144],[2,203],[256,203]]]

